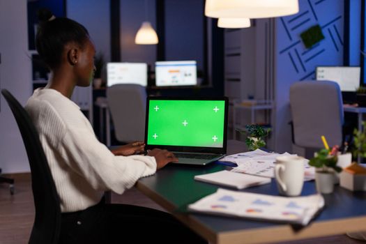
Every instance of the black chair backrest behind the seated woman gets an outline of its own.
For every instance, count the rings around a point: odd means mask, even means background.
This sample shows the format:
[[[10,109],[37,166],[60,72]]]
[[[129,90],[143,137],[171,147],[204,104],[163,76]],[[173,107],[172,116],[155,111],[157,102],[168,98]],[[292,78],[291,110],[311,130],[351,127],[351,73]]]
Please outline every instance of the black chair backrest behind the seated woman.
[[[13,112],[22,134],[29,165],[31,166],[33,200],[36,218],[29,243],[58,243],[61,230],[61,207],[59,195],[51,171],[40,144],[38,132],[26,110],[6,89],[1,93]]]

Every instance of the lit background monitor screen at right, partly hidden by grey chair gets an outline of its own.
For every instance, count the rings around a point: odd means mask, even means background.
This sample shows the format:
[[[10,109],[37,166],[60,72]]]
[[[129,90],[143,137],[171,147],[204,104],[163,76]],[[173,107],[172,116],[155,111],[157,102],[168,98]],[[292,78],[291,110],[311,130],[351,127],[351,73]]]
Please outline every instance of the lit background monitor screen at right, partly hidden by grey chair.
[[[319,66],[317,80],[337,82],[341,91],[356,91],[360,86],[360,67]]]

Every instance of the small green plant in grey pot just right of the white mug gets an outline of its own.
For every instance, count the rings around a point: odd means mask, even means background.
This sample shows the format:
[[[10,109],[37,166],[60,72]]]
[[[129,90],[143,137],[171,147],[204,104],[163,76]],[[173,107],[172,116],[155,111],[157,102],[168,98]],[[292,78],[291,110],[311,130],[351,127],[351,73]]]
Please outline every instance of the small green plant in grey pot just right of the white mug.
[[[333,192],[335,172],[342,171],[342,168],[337,166],[337,151],[330,153],[328,149],[321,149],[315,153],[309,165],[317,168],[315,171],[317,191],[326,194]]]

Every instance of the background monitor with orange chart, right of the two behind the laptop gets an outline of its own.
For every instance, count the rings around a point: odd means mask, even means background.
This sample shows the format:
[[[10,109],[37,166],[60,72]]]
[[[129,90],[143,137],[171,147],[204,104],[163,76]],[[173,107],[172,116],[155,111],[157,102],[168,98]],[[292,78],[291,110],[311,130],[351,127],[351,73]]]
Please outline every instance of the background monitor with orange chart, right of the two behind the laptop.
[[[156,86],[196,86],[196,61],[155,62]]]

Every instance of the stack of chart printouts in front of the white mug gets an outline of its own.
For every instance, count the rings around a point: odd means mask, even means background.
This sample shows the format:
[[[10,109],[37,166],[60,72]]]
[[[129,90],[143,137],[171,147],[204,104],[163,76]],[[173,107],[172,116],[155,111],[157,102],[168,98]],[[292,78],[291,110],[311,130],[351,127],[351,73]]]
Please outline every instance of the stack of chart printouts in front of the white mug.
[[[324,199],[319,194],[307,197],[277,197],[218,189],[217,192],[190,204],[188,209],[199,213],[305,226],[323,206]]]

